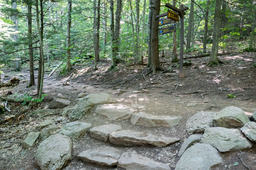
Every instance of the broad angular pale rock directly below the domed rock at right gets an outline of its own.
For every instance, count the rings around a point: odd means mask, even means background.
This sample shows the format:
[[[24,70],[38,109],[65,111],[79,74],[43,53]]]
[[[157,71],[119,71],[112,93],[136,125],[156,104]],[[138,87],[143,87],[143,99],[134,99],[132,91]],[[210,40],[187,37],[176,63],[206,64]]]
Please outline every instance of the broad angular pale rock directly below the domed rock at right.
[[[252,147],[251,142],[238,129],[210,127],[201,138],[204,144],[211,144],[220,152],[235,151]]]

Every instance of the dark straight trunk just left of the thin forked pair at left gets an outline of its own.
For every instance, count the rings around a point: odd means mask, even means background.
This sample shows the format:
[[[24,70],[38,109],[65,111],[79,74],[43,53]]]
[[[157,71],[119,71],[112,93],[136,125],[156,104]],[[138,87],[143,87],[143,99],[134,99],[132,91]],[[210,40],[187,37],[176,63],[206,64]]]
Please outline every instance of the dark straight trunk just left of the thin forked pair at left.
[[[32,3],[31,0],[27,0],[27,39],[28,39],[28,53],[29,53],[29,84],[28,87],[35,85],[34,76],[34,56],[32,45]]]

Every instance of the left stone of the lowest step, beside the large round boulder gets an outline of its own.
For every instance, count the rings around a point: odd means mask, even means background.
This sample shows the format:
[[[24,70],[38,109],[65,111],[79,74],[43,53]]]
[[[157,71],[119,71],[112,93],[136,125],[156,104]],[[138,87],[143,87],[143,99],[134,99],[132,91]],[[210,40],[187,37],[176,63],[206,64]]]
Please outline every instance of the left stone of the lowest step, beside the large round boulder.
[[[79,153],[77,157],[82,161],[89,161],[102,166],[115,166],[117,165],[120,156],[121,152],[118,149],[101,146],[99,148],[83,151],[82,153]]]

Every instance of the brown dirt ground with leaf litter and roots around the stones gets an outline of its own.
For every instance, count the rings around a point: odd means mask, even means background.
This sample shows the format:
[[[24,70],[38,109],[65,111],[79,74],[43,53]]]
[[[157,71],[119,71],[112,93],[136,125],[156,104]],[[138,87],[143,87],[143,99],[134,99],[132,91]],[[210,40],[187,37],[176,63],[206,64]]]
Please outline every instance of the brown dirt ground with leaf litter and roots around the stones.
[[[83,150],[96,148],[101,145],[111,145],[120,150],[136,150],[138,153],[160,161],[168,163],[174,170],[179,160],[177,153],[188,137],[185,124],[193,114],[198,111],[219,111],[227,106],[237,106],[250,116],[256,111],[256,68],[251,66],[255,62],[256,53],[233,53],[220,56],[224,63],[216,67],[208,67],[208,57],[190,59],[192,65],[185,67],[186,77],[179,78],[176,64],[170,59],[160,58],[161,64],[169,71],[157,72],[155,75],[148,74],[145,65],[119,64],[114,70],[107,71],[110,67],[110,60],[102,59],[98,63],[98,70],[94,70],[93,64],[74,65],[71,72],[65,76],[54,74],[44,82],[44,93],[47,94],[43,102],[30,106],[22,106],[20,103],[9,102],[8,107],[11,112],[0,115],[0,120],[5,116],[10,116],[29,108],[19,120],[10,119],[0,125],[0,169],[1,170],[36,170],[35,153],[38,145],[32,149],[22,149],[21,143],[27,134],[37,131],[39,125],[46,119],[54,119],[59,128],[67,122],[73,121],[61,115],[64,109],[47,110],[50,101],[58,93],[62,93],[71,101],[71,106],[76,104],[78,93],[110,93],[112,98],[125,105],[138,104],[145,106],[145,112],[155,115],[180,116],[183,119],[179,125],[173,128],[167,127],[141,127],[133,126],[128,120],[119,122],[102,118],[91,110],[80,121],[91,123],[92,127],[106,123],[114,123],[122,126],[123,129],[136,129],[150,131],[153,133],[165,134],[167,136],[178,137],[180,142],[167,147],[153,146],[118,146],[104,143],[94,139],[87,133],[79,140],[73,140],[72,161],[64,170],[122,170],[119,167],[101,167],[92,163],[84,163],[77,158],[77,154]],[[146,63],[146,60],[145,60]],[[172,68],[170,68],[172,67]],[[21,82],[17,86],[0,88],[0,95],[13,93],[11,96],[20,97],[24,94],[36,98],[36,86],[26,88],[29,82],[29,72],[8,72],[3,70],[5,77],[2,81],[8,81],[13,76],[18,77]],[[209,72],[210,71],[210,72]],[[208,72],[208,73],[207,73]],[[173,74],[166,74],[173,73]],[[135,90],[148,90],[148,93],[132,93]],[[229,98],[228,94],[236,95]],[[197,103],[192,107],[187,107],[188,103]],[[46,109],[44,111],[38,111]],[[52,114],[54,115],[49,115]],[[44,116],[44,117],[43,117]],[[242,152],[221,153],[222,163],[213,170],[247,170],[244,163],[256,170],[256,147]],[[238,165],[237,163],[238,162]]]

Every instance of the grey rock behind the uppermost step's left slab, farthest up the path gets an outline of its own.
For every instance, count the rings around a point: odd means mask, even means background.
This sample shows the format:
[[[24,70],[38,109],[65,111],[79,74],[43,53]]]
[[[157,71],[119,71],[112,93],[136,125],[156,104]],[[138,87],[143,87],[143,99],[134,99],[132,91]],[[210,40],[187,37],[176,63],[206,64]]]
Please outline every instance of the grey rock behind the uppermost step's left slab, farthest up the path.
[[[110,94],[107,93],[89,94],[86,97],[84,97],[83,100],[90,102],[92,104],[107,104],[117,102],[116,100],[111,98]]]

